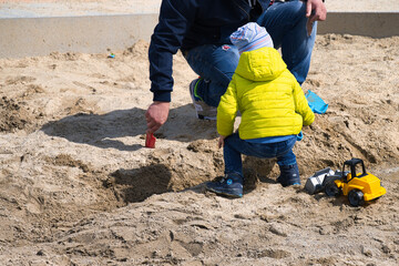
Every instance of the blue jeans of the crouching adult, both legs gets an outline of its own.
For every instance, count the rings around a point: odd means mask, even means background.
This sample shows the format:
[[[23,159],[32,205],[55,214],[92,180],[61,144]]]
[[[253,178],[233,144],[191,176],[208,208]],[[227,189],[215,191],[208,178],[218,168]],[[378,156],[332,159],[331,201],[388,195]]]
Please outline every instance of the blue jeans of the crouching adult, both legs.
[[[306,30],[306,4],[299,0],[275,2],[257,20],[266,28],[276,49],[282,48],[283,60],[299,84],[307,76],[315,44],[315,22],[311,34]],[[197,94],[211,106],[217,106],[226,92],[238,64],[238,49],[232,44],[206,44],[191,49],[186,54],[190,66],[203,79]]]

